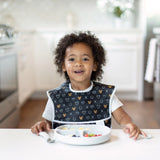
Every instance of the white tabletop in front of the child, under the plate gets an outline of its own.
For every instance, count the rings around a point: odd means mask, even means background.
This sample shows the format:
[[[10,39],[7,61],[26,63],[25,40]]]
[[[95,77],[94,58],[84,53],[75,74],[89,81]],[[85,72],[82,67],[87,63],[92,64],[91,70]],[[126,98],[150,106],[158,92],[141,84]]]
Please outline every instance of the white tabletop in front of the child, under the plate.
[[[134,141],[113,129],[111,139],[93,146],[47,143],[29,129],[0,129],[1,160],[159,160],[160,129],[144,130],[151,139]]]

